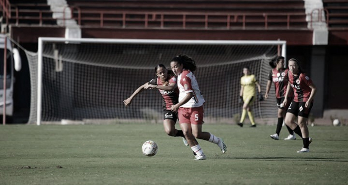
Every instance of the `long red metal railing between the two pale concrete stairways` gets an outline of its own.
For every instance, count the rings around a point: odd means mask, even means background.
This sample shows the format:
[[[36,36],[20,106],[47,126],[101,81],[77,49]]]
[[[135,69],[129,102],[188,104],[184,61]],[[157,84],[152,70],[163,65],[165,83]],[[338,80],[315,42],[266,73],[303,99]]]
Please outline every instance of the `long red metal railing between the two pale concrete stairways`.
[[[72,8],[73,18],[78,20],[80,26],[106,27],[144,27],[167,28],[171,25],[187,29],[188,24],[193,23],[197,28],[210,29],[218,24],[225,29],[246,29],[248,25],[258,25],[268,29],[270,24],[285,24],[287,29],[292,24],[307,23],[305,13],[198,13],[198,12],[115,12],[115,11],[81,11]],[[105,25],[105,23],[108,25]],[[168,25],[168,26],[166,26]],[[200,25],[200,26],[199,26]],[[192,26],[192,27],[194,27]],[[216,26],[215,26],[216,27]],[[278,26],[283,28],[284,26]]]

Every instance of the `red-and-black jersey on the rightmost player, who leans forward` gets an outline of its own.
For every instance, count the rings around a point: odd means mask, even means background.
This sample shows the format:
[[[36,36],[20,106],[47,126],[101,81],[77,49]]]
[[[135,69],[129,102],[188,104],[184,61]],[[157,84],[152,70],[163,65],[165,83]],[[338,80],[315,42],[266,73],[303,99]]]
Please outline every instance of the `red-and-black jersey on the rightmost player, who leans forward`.
[[[313,83],[312,80],[305,73],[299,73],[297,76],[294,76],[292,72],[288,72],[288,74],[289,83],[295,95],[293,101],[307,102],[312,92],[312,89],[309,87]]]

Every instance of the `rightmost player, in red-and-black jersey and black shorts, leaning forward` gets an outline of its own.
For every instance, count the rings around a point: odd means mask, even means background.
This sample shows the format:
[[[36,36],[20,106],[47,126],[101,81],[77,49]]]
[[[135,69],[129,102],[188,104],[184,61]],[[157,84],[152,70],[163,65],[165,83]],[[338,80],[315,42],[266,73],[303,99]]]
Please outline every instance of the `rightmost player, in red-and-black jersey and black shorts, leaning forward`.
[[[308,115],[313,107],[313,97],[316,93],[316,87],[313,81],[301,70],[299,61],[296,59],[289,60],[289,83],[287,85],[285,97],[290,94],[290,86],[294,92],[294,99],[286,113],[285,124],[287,124],[295,133],[302,133],[303,147],[297,153],[309,152],[311,139],[307,127]],[[284,99],[283,105],[287,105],[287,98]],[[298,116],[298,125],[294,119]]]

